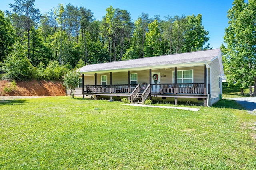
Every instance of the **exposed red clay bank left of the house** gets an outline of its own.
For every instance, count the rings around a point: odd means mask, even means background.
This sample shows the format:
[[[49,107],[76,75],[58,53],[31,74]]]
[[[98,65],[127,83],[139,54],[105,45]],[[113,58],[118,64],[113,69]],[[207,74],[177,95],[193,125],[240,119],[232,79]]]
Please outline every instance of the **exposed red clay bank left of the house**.
[[[46,80],[18,81],[17,90],[6,93],[4,87],[10,86],[10,82],[2,80],[0,81],[0,96],[64,96],[65,87],[61,83]]]

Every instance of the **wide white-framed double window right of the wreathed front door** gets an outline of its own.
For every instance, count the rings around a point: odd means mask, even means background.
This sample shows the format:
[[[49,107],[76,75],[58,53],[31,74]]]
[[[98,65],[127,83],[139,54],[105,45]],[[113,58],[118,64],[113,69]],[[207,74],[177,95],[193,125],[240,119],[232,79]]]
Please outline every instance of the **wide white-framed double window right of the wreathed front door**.
[[[175,72],[173,71],[173,83],[175,81]],[[177,71],[177,83],[193,83],[193,70]]]

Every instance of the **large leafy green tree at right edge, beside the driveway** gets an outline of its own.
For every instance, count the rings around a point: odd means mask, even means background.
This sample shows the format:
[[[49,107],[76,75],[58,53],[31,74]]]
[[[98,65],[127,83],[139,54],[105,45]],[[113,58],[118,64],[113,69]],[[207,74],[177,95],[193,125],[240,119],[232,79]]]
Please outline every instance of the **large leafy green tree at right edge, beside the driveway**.
[[[233,7],[228,10],[229,26],[225,30],[222,45],[224,71],[229,83],[236,81],[241,88],[256,85],[256,0],[234,0]]]

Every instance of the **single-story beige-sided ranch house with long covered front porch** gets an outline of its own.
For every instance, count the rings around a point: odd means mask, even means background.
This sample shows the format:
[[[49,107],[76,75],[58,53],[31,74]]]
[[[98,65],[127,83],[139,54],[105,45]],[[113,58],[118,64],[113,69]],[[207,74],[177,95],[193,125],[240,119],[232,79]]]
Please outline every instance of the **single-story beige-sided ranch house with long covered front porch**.
[[[222,94],[224,76],[220,49],[91,64],[80,68],[75,95],[198,102],[212,106]],[[68,95],[69,92],[67,91]]]

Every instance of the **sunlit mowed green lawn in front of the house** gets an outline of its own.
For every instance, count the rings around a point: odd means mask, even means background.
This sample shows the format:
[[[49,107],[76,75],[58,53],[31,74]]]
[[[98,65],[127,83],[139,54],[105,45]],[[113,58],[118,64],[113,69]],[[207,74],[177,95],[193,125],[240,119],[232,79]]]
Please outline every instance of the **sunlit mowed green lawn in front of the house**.
[[[256,169],[256,116],[50,97],[0,100],[0,169]]]

